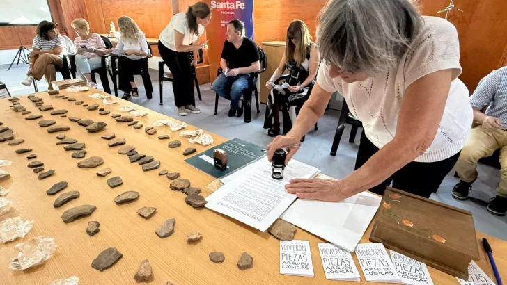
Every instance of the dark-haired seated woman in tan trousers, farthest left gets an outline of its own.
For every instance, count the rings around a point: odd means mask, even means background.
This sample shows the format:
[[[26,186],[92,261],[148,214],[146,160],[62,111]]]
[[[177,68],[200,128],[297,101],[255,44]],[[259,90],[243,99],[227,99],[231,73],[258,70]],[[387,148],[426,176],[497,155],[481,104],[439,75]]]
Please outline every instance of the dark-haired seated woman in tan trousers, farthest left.
[[[30,53],[30,67],[21,83],[31,86],[33,79],[40,80],[44,76],[49,85],[47,89],[53,90],[51,82],[56,81],[56,67],[63,65],[60,54],[65,49],[65,40],[56,31],[56,24],[48,21],[40,22],[36,33]]]

